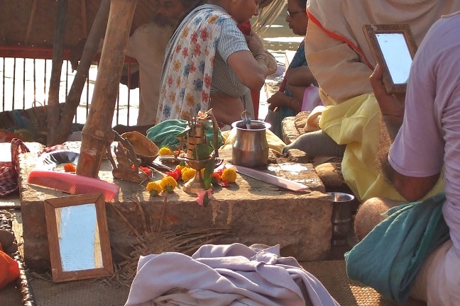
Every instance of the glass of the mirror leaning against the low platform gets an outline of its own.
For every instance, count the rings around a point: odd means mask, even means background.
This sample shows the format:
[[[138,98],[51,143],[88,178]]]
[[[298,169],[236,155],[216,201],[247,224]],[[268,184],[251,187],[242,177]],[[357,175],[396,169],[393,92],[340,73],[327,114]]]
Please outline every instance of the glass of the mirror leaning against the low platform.
[[[56,208],[55,213],[62,271],[102,268],[96,205]]]

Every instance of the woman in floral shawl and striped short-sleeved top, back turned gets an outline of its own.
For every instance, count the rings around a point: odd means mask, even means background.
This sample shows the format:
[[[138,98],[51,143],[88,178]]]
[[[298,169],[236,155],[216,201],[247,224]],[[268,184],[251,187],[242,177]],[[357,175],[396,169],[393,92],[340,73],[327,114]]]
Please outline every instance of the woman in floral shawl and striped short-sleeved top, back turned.
[[[260,3],[210,0],[184,18],[166,50],[156,123],[187,120],[209,108],[219,123],[241,120],[252,106],[250,91],[260,91],[276,69],[261,39],[237,27],[258,14]]]

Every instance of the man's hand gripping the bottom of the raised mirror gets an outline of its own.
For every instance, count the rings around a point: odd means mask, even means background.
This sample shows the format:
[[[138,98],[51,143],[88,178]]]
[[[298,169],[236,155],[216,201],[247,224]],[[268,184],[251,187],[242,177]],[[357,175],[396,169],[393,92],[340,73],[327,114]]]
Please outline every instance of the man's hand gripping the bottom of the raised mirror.
[[[402,119],[404,117],[405,94],[387,94],[383,85],[383,70],[380,64],[376,65],[369,81],[371,81],[374,95],[380,107],[380,113]]]

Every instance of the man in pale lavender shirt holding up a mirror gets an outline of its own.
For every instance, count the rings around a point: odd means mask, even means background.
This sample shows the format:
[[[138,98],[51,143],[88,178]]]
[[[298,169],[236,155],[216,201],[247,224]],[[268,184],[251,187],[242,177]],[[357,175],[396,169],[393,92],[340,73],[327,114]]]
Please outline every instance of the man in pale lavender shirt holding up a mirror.
[[[430,28],[412,62],[405,103],[386,94],[380,66],[371,76],[386,178],[410,202],[439,177],[445,182],[445,191],[427,200],[396,206],[372,198],[356,215],[362,240],[346,254],[347,273],[399,303],[412,295],[429,306],[460,305],[459,26],[460,11]]]

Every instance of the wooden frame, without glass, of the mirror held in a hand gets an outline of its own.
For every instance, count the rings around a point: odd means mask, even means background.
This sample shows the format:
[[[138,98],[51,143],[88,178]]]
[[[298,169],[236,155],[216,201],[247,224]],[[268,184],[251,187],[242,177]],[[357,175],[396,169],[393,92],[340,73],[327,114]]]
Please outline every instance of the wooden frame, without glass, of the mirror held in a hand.
[[[410,26],[408,24],[383,24],[383,25],[364,25],[363,32],[368,41],[368,45],[371,48],[374,60],[380,64],[383,69],[383,84],[388,94],[400,94],[405,93],[407,89],[407,84],[395,84],[393,79],[390,76],[390,70],[388,69],[388,64],[383,57],[382,49],[378,44],[377,34],[389,34],[389,33],[398,33],[403,34],[405,42],[407,45],[407,50],[409,51],[412,60],[414,59],[415,52],[417,52],[417,42],[412,35]]]

